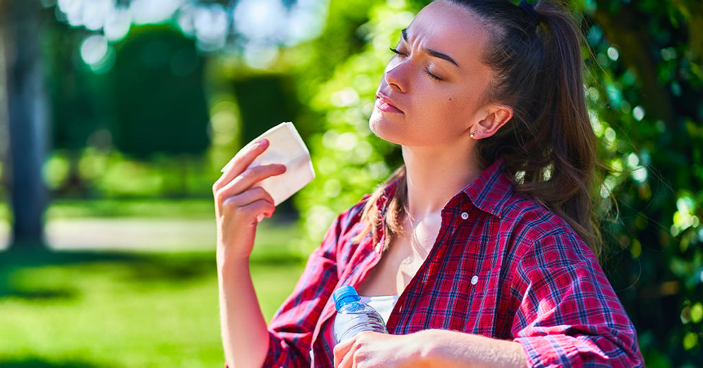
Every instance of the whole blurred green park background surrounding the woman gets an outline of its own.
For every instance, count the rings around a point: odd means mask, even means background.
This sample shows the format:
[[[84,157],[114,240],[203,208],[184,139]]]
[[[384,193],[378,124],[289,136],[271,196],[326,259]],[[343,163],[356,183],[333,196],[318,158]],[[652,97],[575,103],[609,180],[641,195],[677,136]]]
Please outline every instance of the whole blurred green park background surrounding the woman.
[[[0,0],[0,366],[220,367],[219,169],[280,121],[311,150],[317,178],[257,235],[269,318],[399,164],[367,120],[426,3]],[[703,367],[703,4],[573,6],[614,169],[603,268],[647,367]]]

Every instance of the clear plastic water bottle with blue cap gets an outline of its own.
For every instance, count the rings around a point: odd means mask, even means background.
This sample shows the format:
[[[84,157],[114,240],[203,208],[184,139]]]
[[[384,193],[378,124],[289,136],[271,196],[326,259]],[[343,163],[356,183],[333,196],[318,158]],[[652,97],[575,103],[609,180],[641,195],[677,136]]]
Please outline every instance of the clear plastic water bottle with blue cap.
[[[332,294],[332,298],[337,308],[337,317],[335,317],[337,343],[350,339],[361,331],[388,333],[381,315],[370,305],[361,302],[354,287],[340,287]]]

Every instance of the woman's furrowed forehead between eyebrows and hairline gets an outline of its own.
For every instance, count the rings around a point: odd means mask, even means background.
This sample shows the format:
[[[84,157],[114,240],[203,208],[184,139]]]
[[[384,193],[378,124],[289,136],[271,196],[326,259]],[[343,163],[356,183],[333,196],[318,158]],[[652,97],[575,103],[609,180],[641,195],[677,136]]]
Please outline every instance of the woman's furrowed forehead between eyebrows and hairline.
[[[479,60],[487,39],[482,23],[471,11],[447,0],[425,6],[408,26],[407,34],[413,44],[465,61]]]

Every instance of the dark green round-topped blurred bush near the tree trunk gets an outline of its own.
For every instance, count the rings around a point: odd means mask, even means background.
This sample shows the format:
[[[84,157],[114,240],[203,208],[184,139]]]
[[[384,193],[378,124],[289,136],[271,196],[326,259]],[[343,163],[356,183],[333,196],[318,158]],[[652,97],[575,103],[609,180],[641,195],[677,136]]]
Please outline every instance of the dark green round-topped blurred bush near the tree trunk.
[[[200,155],[209,146],[202,60],[167,26],[138,27],[118,44],[112,78],[115,147],[134,157]]]

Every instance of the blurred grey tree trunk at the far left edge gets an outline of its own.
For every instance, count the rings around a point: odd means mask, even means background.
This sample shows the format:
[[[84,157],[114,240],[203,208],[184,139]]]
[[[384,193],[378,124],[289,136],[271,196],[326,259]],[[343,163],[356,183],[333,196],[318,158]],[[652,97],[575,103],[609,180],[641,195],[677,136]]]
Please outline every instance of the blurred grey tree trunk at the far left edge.
[[[48,192],[41,178],[46,157],[47,105],[41,68],[36,0],[0,2],[2,71],[9,133],[8,192],[13,212],[11,249],[45,249]]]

